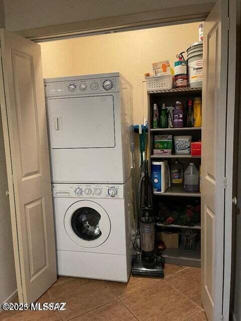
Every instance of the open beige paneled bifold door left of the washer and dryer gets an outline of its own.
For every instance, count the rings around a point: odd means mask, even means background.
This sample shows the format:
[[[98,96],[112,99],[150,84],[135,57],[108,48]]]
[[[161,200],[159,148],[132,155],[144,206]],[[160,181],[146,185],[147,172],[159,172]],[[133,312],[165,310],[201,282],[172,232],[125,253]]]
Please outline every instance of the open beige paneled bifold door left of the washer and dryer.
[[[0,101],[20,302],[56,280],[53,206],[40,46],[0,30]]]

